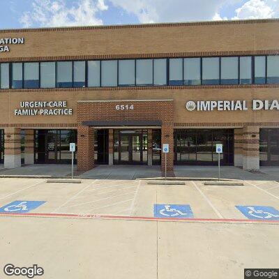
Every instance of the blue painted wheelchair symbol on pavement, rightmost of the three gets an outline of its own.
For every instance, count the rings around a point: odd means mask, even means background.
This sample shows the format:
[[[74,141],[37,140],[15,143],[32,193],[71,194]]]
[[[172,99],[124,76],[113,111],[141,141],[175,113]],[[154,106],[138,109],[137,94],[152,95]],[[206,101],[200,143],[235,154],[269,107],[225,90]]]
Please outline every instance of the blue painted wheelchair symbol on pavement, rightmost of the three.
[[[239,209],[248,219],[279,220],[279,211],[272,206],[238,205],[236,209]]]

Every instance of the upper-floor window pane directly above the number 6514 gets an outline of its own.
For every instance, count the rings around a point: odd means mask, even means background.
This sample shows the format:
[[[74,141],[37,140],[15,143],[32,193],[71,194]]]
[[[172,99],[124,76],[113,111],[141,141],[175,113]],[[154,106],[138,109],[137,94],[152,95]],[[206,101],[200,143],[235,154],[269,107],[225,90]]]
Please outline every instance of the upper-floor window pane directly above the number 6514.
[[[135,85],[135,60],[119,60],[119,86]]]

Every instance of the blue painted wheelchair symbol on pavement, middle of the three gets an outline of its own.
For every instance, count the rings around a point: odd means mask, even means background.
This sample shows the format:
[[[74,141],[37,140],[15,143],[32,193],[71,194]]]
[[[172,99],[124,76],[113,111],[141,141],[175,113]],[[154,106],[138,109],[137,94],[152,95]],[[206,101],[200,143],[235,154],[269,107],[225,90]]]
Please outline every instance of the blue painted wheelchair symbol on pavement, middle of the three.
[[[194,218],[189,204],[154,204],[154,217]]]

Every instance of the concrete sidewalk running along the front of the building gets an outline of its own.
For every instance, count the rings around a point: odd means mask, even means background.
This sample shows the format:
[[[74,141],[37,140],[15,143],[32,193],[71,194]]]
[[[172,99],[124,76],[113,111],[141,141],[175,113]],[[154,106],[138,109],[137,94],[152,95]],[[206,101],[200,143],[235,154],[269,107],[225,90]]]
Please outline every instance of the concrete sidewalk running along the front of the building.
[[[146,165],[97,165],[88,172],[77,172],[75,177],[80,179],[155,179],[162,178],[160,166]],[[16,169],[4,169],[0,165],[1,176],[52,176],[54,178],[70,177],[71,165],[25,165]],[[217,166],[188,166],[176,165],[174,172],[169,174],[172,179],[218,179]],[[246,172],[239,167],[224,166],[220,171],[221,179],[279,181],[278,167],[261,167],[259,172]]]

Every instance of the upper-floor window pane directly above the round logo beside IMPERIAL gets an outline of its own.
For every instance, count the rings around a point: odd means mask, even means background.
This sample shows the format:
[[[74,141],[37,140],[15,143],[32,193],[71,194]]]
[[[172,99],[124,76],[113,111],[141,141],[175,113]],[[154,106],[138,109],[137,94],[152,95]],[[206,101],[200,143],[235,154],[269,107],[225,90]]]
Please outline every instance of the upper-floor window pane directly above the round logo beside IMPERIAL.
[[[184,70],[183,70],[184,85],[201,84],[200,68],[201,68],[200,58],[184,59]]]

